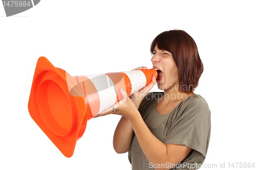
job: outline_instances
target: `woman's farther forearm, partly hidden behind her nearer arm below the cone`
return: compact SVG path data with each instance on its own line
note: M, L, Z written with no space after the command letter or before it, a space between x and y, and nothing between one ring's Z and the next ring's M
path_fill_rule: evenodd
M133 128L126 117L121 117L113 137L113 147L117 153L130 150L133 139Z

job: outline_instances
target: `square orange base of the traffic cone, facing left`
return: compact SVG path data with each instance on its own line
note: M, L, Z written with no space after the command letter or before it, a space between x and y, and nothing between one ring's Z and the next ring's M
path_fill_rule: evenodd
M65 70L54 67L45 57L36 64L28 109L42 131L66 157L86 129L86 103L70 95Z

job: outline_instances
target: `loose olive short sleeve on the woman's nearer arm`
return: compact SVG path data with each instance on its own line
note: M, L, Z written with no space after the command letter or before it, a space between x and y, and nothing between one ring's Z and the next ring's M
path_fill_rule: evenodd
M200 95L193 95L169 117L165 144L183 144L193 149L188 160L205 159L210 137L210 110Z

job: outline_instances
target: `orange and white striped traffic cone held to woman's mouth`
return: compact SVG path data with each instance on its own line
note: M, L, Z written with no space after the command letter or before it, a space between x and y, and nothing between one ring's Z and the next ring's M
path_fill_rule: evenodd
M71 76L40 57L28 109L42 131L66 157L71 157L87 121L121 101L120 89L133 94L149 84L155 69Z

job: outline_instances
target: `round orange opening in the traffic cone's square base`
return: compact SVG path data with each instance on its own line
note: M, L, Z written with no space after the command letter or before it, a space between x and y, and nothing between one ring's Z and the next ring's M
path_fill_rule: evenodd
M40 83L37 91L40 115L54 134L65 136L73 127L72 107L65 90L52 79Z

